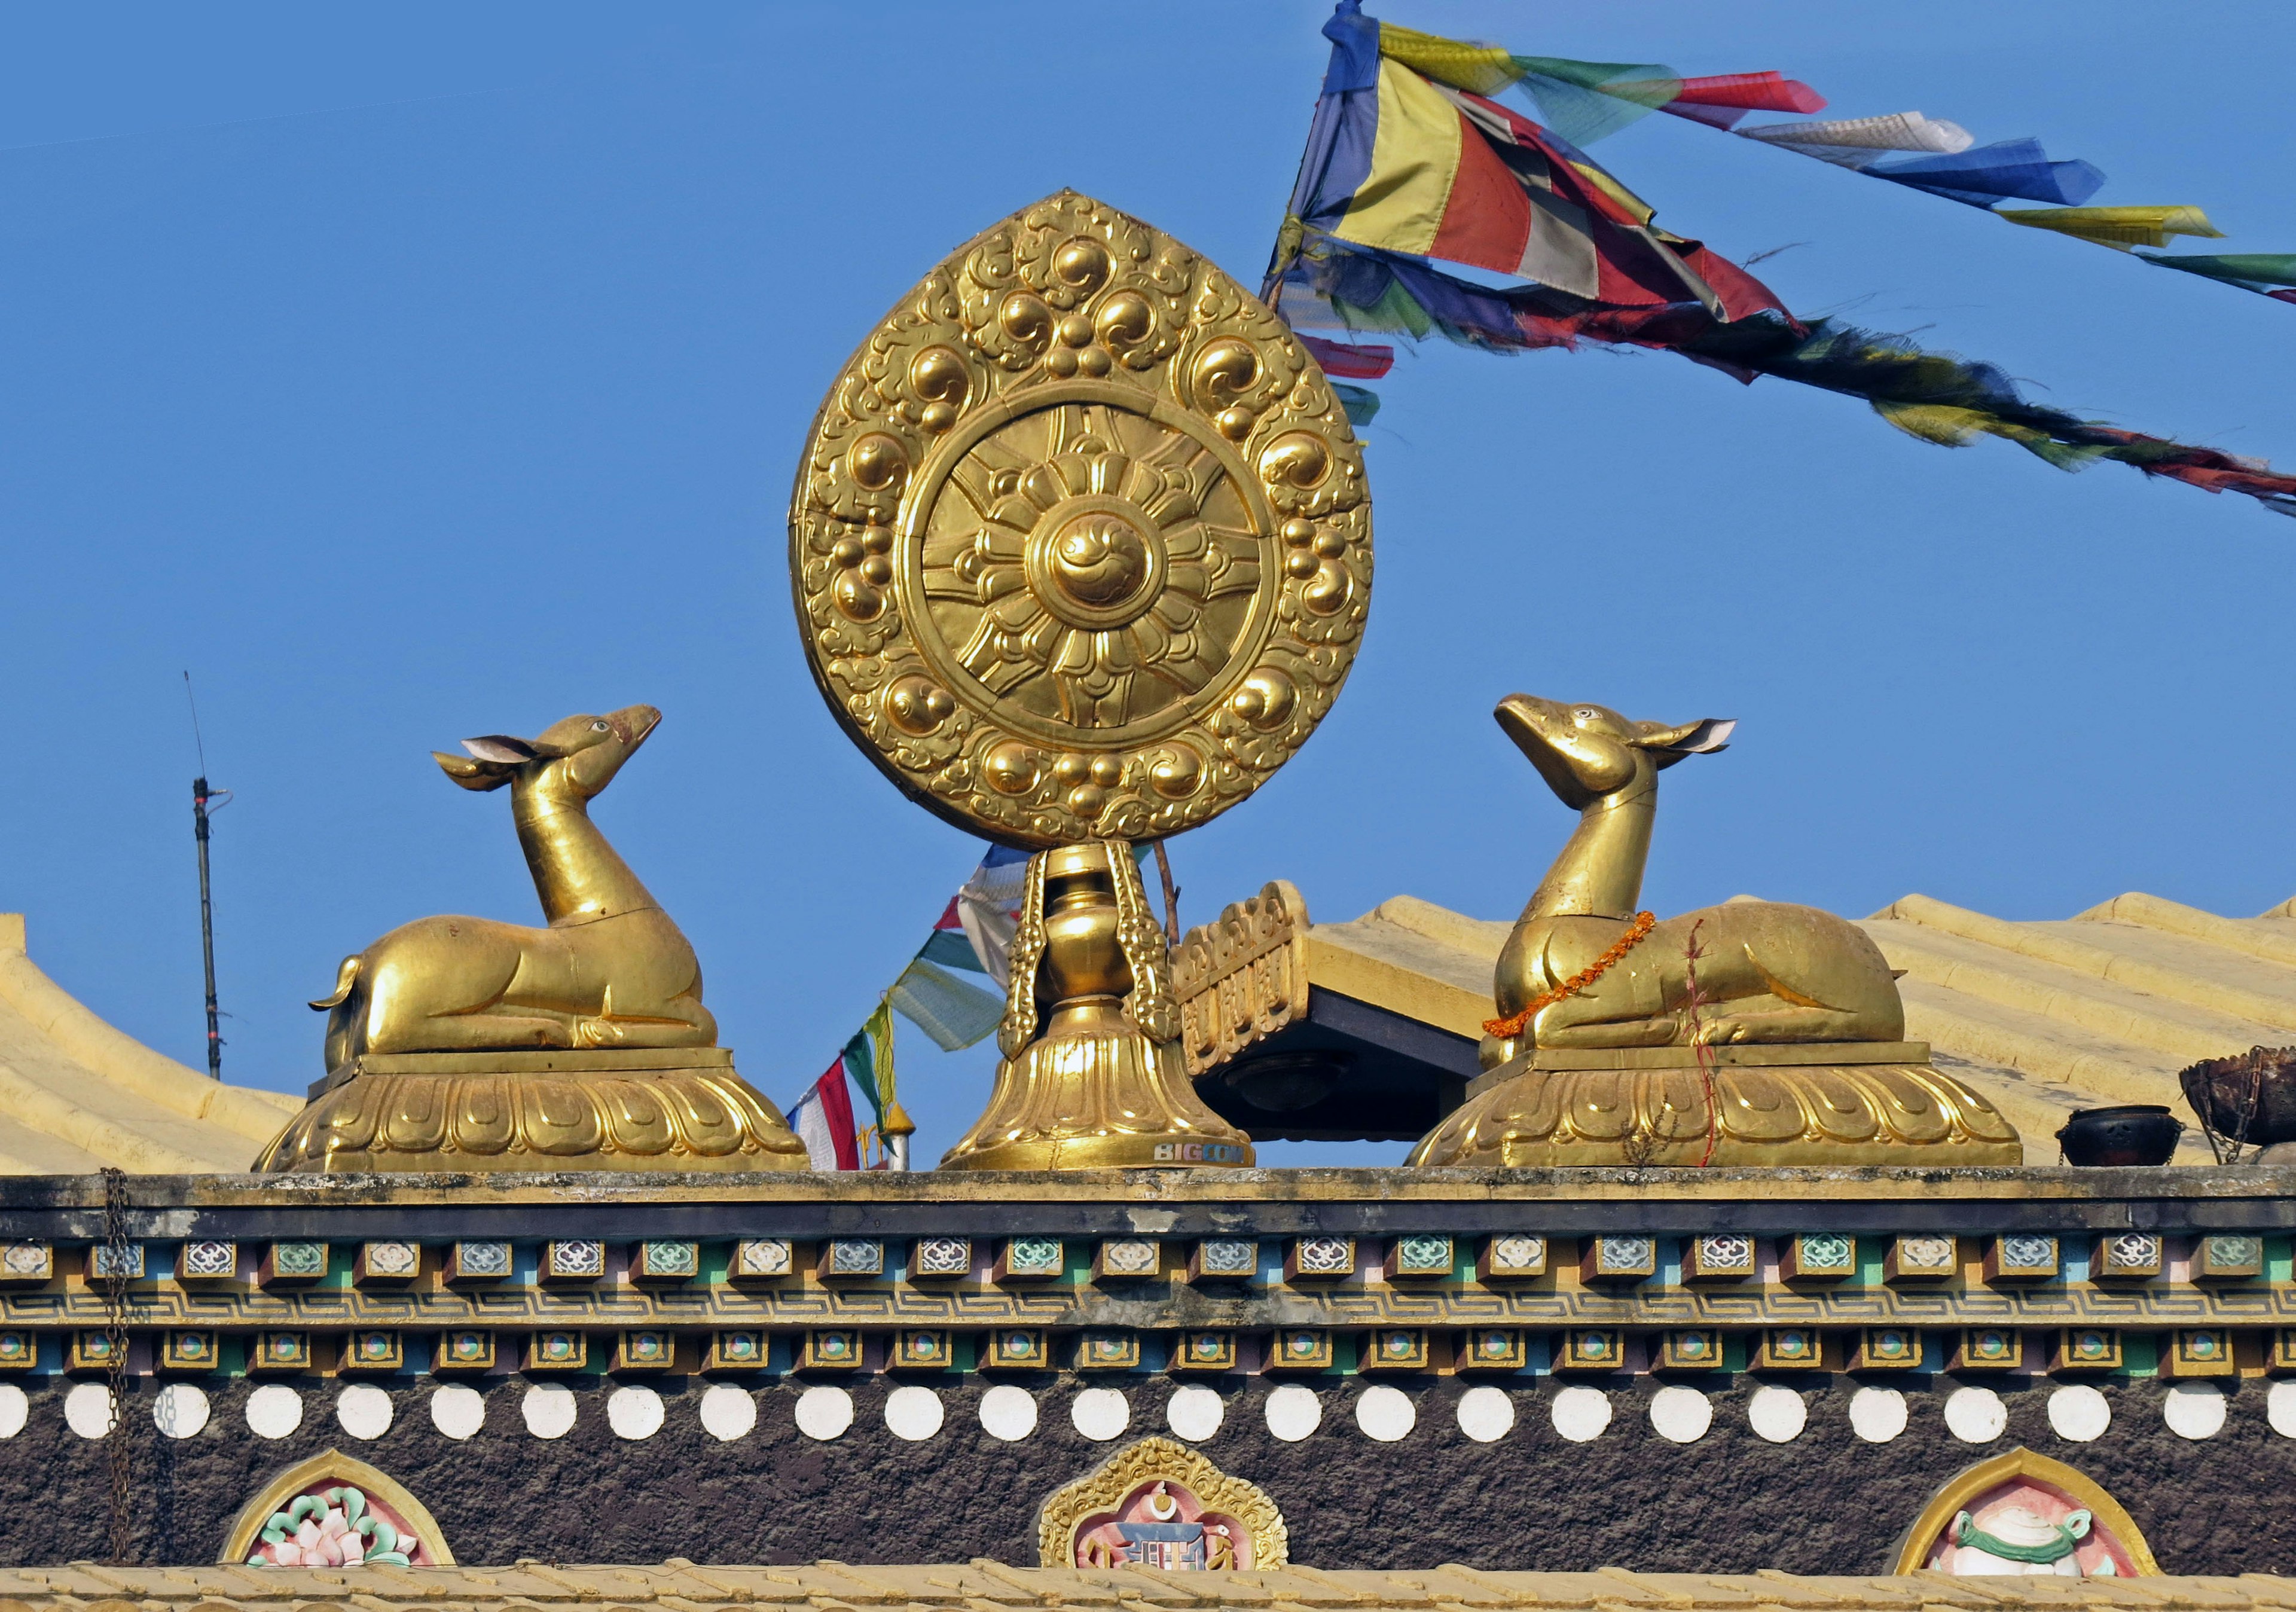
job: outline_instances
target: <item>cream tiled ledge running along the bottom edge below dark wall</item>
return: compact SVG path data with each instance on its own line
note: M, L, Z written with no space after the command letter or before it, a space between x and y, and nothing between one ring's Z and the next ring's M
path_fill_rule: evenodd
M985 1612L987 1607L1329 1607L1332 1612L1456 1612L1495 1607L1649 1607L1651 1612L2250 1612L2296 1607L2296 1580L2241 1578L1795 1578L1791 1573L1495 1573L1437 1566L1412 1573L1265 1568L1153 1573L1148 1568L1010 1568L974 1559L946 1566L659 1566L450 1568L117 1568L73 1561L0 1568L0 1605L37 1612L163 1612L168 1607L886 1607Z

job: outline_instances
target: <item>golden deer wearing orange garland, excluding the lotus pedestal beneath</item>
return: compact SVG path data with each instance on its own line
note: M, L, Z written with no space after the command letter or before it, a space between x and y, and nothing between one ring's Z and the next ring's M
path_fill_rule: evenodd
M1506 696L1495 716L1564 806L1580 813L1580 827L1499 953L1499 1020L1515 1020L1536 1001L1545 1006L1515 1036L1486 1043L1486 1068L1527 1045L1688 1047L1906 1033L1896 981L1864 930L1816 907L1768 900L1667 919L1593 981L1559 994L1635 925L1658 774L1685 755L1720 751L1736 723L1667 728L1529 693Z

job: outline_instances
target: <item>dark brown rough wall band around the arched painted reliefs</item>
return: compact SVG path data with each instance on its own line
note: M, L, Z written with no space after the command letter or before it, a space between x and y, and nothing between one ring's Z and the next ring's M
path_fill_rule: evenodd
M1029 1385L1040 1398L1033 1437L1003 1444L980 1431L976 1378L941 1389L948 1419L921 1444L884 1428L891 1385L854 1387L845 1437L797 1433L799 1387L758 1389L758 1428L721 1444L693 1401L698 1385L664 1382L668 1419L643 1442L606 1426L602 1385L579 1389L581 1417L556 1442L519 1417L521 1382L487 1387L487 1428L455 1442L432 1428L429 1382L393 1387L397 1419L360 1442L333 1419L328 1385L305 1387L305 1421L287 1440L248 1433L248 1382L211 1389L214 1417L188 1440L152 1431L149 1385L135 1405L135 1555L149 1564L211 1561L232 1516L282 1467L326 1447L406 1483L436 1516L457 1557L556 1561L962 1561L1035 1559L1033 1518L1056 1486L1088 1472L1125 1440L1164 1431L1171 1385L1127 1385L1132 1431L1116 1444L1084 1440L1068 1419L1075 1382ZM1945 1431L1954 1382L1908 1385L1910 1424L1890 1444L1848 1426L1853 1382L1795 1385L1809 1426L1768 1444L1745 1426L1750 1380L1715 1394L1713 1431L1669 1444L1649 1424L1653 1385L1616 1385L1616 1415L1591 1444L1568 1444L1548 1421L1552 1385L1515 1389L1515 1431L1497 1444L1453 1421L1458 1385L1407 1387L1419 1426L1396 1444L1364 1437L1350 1415L1357 1382L1325 1392L1322 1428L1283 1444L1267 1435L1267 1385L1221 1392L1228 1417L1203 1444L1224 1470L1261 1483L1290 1525L1293 1559L1325 1568L1596 1568L1747 1573L1878 1573L1899 1534L1954 1472L2011 1444L2066 1460L2138 1518L2170 1573L2296 1571L2296 1440L2264 1421L2262 1382L2234 1392L2225 1431L2190 1442L2161 1421L2163 1385L2105 1387L2112 1426L2094 1444L2060 1440L2048 1382L2009 1401L2009 1433L1961 1444ZM101 1444L64 1426L64 1385L28 1385L32 1419L0 1442L0 1564L101 1559L110 1479Z

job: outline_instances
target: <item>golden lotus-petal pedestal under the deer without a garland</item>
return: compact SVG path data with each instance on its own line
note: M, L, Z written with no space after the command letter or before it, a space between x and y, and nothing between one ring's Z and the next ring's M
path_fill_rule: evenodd
M363 1054L310 1098L255 1169L806 1169L726 1047Z

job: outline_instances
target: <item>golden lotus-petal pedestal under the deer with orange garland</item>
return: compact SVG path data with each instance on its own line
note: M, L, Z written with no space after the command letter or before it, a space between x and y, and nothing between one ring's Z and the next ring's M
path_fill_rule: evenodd
M1531 1049L1476 1077L1412 1164L2023 1164L1929 1045Z

